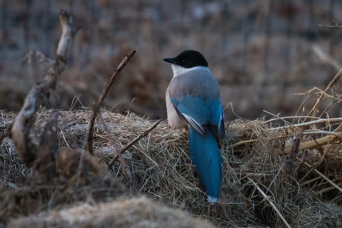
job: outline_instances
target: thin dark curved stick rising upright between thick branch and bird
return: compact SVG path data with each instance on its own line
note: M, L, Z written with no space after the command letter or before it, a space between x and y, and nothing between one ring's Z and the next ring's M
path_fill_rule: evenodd
M107 93L110 89L110 86L113 84L116 77L119 75L120 71L123 69L123 67L128 63L128 61L133 57L135 54L135 49L133 49L130 53L126 55L126 57L122 60L120 65L116 68L114 73L111 74L107 84L105 85L105 88L102 91L102 94L100 98L98 98L98 101L94 105L94 109L92 112L92 116L89 122L88 131L87 131L87 150L93 155L94 149L93 149L93 134L94 134L94 124L96 119L96 113L98 109L102 106L104 99L107 96Z

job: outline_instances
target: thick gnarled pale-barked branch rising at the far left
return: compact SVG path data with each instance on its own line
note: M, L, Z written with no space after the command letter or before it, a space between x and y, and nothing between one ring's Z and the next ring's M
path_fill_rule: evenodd
M65 69L66 59L74 38L73 19L66 11L60 11L62 35L57 48L57 56L42 82L34 85L25 98L24 105L12 123L11 135L18 155L27 166L36 158L37 148L29 136L41 100L49 97L55 89L57 76Z

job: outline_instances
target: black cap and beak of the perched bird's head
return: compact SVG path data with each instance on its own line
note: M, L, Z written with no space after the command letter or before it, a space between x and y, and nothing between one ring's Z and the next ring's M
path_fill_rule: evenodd
M201 53L194 50L183 51L174 58L165 58L163 61L172 63L184 68L192 68L197 66L208 67L206 59Z

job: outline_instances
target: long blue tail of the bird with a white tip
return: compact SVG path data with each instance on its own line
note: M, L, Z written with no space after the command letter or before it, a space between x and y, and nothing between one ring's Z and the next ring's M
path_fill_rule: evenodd
M190 126L189 151L192 163L196 165L196 171L206 187L208 201L216 202L221 187L222 158L211 130L201 135Z

